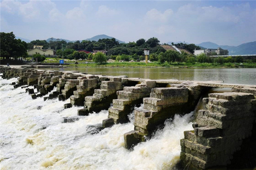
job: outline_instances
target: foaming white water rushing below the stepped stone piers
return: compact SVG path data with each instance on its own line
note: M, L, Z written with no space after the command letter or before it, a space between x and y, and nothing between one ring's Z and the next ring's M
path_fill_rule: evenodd
M175 115L152 139L128 151L124 133L133 130L132 123L92 135L88 125L102 123L108 111L62 123L63 117L76 116L82 107L64 109L69 99L32 100L25 89L13 89L14 81L0 80L1 169L172 169L180 159L183 132L193 129L192 113Z

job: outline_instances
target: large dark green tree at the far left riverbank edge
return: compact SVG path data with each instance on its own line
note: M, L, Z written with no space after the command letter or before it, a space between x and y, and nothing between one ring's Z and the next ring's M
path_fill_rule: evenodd
M13 32L10 33L0 33L0 43L1 50L0 56L6 59L13 57L17 59L18 57L27 57L27 43L21 41L20 39L15 39Z

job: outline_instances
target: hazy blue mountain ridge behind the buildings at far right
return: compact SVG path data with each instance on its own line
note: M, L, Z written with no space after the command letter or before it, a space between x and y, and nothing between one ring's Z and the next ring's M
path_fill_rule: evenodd
M228 50L229 55L256 54L256 41L244 43L239 46L218 45L212 42L204 42L196 45L212 49L217 49L218 47L220 47L224 50Z

